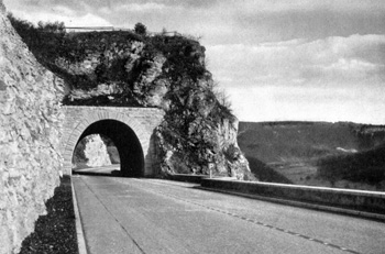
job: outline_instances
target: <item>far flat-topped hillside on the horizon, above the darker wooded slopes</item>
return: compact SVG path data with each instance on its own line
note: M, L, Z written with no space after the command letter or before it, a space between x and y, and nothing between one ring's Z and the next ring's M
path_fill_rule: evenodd
M385 143L384 125L350 122L240 122L239 145L264 163L294 163L367 151Z

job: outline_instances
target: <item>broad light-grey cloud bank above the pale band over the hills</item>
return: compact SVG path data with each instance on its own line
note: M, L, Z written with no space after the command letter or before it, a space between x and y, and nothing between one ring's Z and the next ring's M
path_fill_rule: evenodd
M358 86L385 80L385 35L207 47L223 86ZM378 57L380 56L380 57ZM374 84L373 84L374 82Z

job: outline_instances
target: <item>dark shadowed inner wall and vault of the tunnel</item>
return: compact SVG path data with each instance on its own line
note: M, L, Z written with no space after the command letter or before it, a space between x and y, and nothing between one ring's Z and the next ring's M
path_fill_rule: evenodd
M82 139L92 134L99 134L100 136L107 137L116 145L120 157L119 175L125 177L143 176L144 155L142 145L130 126L116 120L101 120L95 122L81 133L76 146L78 146Z

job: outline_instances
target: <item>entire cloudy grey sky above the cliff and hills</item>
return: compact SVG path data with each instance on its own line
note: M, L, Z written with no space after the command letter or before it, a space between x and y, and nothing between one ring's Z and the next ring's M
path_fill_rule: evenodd
M200 37L240 121L385 124L384 0L3 0L66 26Z

